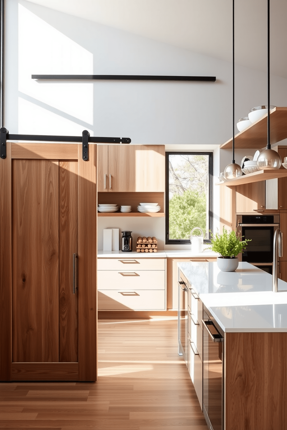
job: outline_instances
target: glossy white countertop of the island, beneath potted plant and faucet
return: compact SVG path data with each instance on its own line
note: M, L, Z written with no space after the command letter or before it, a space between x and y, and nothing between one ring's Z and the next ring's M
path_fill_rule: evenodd
M182 262L178 267L225 332L286 332L287 283L239 263L235 272L222 272L216 263Z

